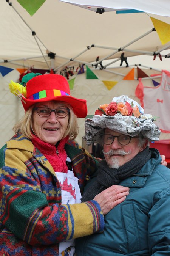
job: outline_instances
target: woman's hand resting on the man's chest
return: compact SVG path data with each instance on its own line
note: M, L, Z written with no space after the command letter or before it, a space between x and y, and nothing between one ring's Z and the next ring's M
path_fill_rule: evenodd
M113 185L94 197L94 200L99 203L103 214L107 214L117 204L122 203L129 194L129 188L119 185Z

